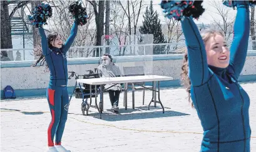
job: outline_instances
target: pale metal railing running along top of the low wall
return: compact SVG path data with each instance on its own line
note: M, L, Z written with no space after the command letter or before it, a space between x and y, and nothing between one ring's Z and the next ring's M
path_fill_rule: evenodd
M256 49L252 49L250 41L248 46L248 53L256 53ZM185 43L162 43L162 44L127 44L120 46L74 46L71 47L67 53L67 58L92 58L102 56L106 53L106 48L109 48L112 56L143 56L156 54L182 54L187 49ZM23 60L31 61L36 58L33 55L33 48L20 49L1 49L1 51L13 51L14 61ZM19 51L20 58L16 59L16 53Z

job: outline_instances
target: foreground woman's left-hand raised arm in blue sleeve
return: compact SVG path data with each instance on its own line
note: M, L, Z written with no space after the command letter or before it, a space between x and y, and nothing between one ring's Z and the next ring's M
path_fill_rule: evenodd
M182 29L188 49L188 75L191 83L199 86L209 78L205 45L192 18L185 18L182 21Z

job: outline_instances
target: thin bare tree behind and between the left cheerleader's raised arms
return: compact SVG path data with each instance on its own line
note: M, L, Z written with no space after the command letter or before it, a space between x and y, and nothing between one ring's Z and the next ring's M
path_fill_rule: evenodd
M70 34L71 27L73 26L74 19L71 13L68 13L69 5L73 1L49 1L49 4L53 7L53 17L48 21L48 27L50 32L58 32L63 36L64 41ZM93 17L93 7L88 4L87 1L83 1L83 7L86 8L86 12L89 16L88 22L84 26L78 27L78 34L74 40L73 46L91 46L95 41L95 29L89 29ZM68 52L69 58L88 57L93 56L90 49L71 49Z

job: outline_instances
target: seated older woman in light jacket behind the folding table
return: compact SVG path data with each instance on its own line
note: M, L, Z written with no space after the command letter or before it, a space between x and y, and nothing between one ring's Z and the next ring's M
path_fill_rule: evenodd
M98 66L97 73L101 78L118 77L121 76L120 68L113 63L113 58L110 54L103 54L101 57L102 63ZM110 102L112 109L115 113L118 113L118 102L121 93L121 84L106 84L105 88L108 89L110 95Z

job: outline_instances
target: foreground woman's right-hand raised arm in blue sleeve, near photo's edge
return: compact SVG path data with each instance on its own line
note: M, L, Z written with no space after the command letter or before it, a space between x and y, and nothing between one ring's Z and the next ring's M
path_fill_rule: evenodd
M234 24L234 36L230 48L230 66L238 78L247 56L250 34L248 1L237 1L237 17Z

